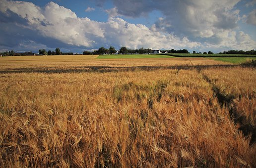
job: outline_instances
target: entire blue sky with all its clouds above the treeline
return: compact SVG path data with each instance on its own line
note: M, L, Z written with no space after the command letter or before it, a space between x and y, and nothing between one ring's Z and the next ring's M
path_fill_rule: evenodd
M256 0L0 0L0 52L256 50Z

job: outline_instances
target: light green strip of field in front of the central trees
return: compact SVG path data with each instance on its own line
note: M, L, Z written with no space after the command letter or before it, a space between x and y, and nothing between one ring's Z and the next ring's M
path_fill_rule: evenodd
M170 55L157 54L132 54L132 55L99 55L97 59L118 59L118 58L174 58Z

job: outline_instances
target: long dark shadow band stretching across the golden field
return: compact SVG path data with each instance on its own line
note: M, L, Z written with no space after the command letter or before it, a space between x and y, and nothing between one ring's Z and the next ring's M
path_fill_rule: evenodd
M179 65L179 66L137 66L137 67L110 67L110 66L81 66L73 68L56 68L56 67L41 67L41 68L8 68L0 70L1 74L9 73L108 73L108 72L126 72L126 71L153 71L161 69L178 69L189 70L196 69L201 70L205 68L230 68L238 67L240 65Z

